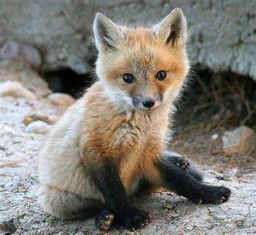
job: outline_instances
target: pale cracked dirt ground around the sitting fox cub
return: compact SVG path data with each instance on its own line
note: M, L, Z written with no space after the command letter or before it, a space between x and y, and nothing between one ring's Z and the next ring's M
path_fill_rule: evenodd
M16 75L21 76L19 73ZM33 89L46 88L40 86ZM13 219L17 234L99 232L93 219L62 221L46 215L37 204L38 150L45 135L25 133L22 121L31 114L56 118L62 112L62 108L51 105L45 98L29 101L0 97L0 222ZM193 112L190 107L184 111L190 115ZM199 168L205 172L206 183L226 185L231 188L232 196L220 205L197 205L170 192L137 198L134 204L150 211L153 219L151 224L134 233L256 233L255 152L224 155L220 151L220 137L212 140L211 136L215 133L221 136L226 128L232 127L225 127L221 120L214 124L216 117L207 119L207 122L193 119L190 123L187 121L190 115L185 115L186 118L177 116L179 124L174 129L176 133L171 148L190 156L198 167L200 165ZM109 233L132 232L113 228Z

